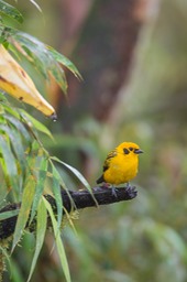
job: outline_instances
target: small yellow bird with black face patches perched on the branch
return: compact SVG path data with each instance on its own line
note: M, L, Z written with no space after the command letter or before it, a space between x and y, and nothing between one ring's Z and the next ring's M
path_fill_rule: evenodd
M103 173L97 184L107 183L112 186L128 183L135 177L139 167L139 154L143 153L140 147L132 142L123 142L112 150L105 163Z

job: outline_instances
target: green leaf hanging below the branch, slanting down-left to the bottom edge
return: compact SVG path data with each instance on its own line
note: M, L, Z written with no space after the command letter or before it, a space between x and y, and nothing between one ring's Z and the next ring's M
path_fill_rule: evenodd
M44 200L43 200L43 198L41 198L38 207L37 207L35 252L34 252L34 257L33 257L33 260L32 260L28 282L31 280L31 276L33 274L33 271L34 271L37 258L38 258L38 254L41 252L41 249L42 249L42 246L43 246L43 242L44 242L45 232L46 232L46 224L47 224L47 212L46 212Z

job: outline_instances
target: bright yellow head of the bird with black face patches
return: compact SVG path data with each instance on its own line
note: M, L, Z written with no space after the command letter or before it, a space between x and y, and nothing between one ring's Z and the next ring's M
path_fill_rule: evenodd
M125 155L139 155L143 153L140 147L132 142L123 142L119 147L117 147L117 151L121 154Z

